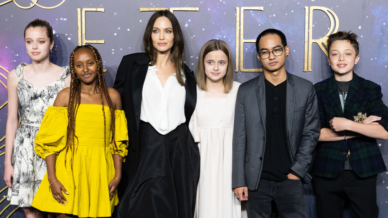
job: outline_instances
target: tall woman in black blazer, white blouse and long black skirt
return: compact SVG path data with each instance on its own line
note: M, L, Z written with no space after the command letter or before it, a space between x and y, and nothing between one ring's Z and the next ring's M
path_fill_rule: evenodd
M184 39L168 10L148 21L145 53L126 55L114 88L128 120L117 217L193 217L199 152L188 129L195 109L194 73L183 63Z

